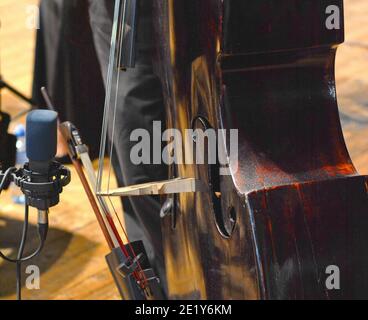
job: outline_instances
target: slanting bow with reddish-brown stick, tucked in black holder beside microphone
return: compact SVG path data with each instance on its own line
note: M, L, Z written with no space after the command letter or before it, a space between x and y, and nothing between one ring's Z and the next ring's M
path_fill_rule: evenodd
M54 107L46 89L42 88L41 91L49 109L53 110ZM106 257L106 260L109 264L110 270L113 273L113 277L118 285L120 293L123 297L128 298L141 299L145 297L152 299L154 297L159 297L160 290L158 290L155 286L155 282L158 282L157 277L154 276L152 269L147 268L143 270L141 266L141 261L145 258L145 252L141 252L138 255L135 253L134 243L129 241L127 232L114 209L116 217L119 220L120 227L122 228L127 241L127 245L124 245L106 201L102 197L97 197L96 201L96 197L91 189L91 186L93 188L96 187L96 176L93 170L91 159L88 155L88 147L83 144L77 128L70 122L64 122L59 124L59 130L61 133L60 142L67 147L69 157L74 168L76 169L80 181L82 182L83 188L87 194L88 200L96 215L97 221L108 243L108 246L111 249L111 254ZM83 168L87 172L89 182ZM137 290L132 283L127 284L126 281L123 281L121 277L117 275L116 271L118 271L123 278L132 275L139 288L144 293L144 297L142 297L142 292ZM149 275L149 279L147 279L146 274ZM130 292L127 293L126 291Z

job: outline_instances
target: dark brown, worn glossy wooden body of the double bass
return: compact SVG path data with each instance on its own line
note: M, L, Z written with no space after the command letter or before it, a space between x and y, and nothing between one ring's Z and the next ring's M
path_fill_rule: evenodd
M340 29L326 28L328 5L341 10ZM367 179L344 143L334 79L342 0L155 0L154 9L168 127L239 133L231 175L170 169L210 187L174 196L163 219L170 298L367 297Z

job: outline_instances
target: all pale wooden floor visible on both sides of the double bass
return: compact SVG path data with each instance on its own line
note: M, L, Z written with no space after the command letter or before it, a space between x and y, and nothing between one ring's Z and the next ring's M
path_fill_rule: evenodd
M31 88L34 31L26 28L26 8L37 2L0 0L2 74L27 94ZM338 98L348 149L358 170L368 174L368 1L344 3L346 43L337 56ZM4 92L3 107L14 114L26 106ZM2 195L0 248L15 247L22 214L22 208L11 203L9 192ZM104 261L107 246L78 179L65 190L50 220L46 249L32 261L41 268L41 289L24 289L24 298L119 298ZM32 227L31 238L34 232ZM13 298L14 268L0 261L0 299Z

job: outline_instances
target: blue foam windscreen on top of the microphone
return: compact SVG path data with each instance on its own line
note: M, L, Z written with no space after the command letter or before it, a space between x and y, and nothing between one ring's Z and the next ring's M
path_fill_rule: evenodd
M58 114L34 110L27 116L26 152L30 161L50 161L55 157Z

